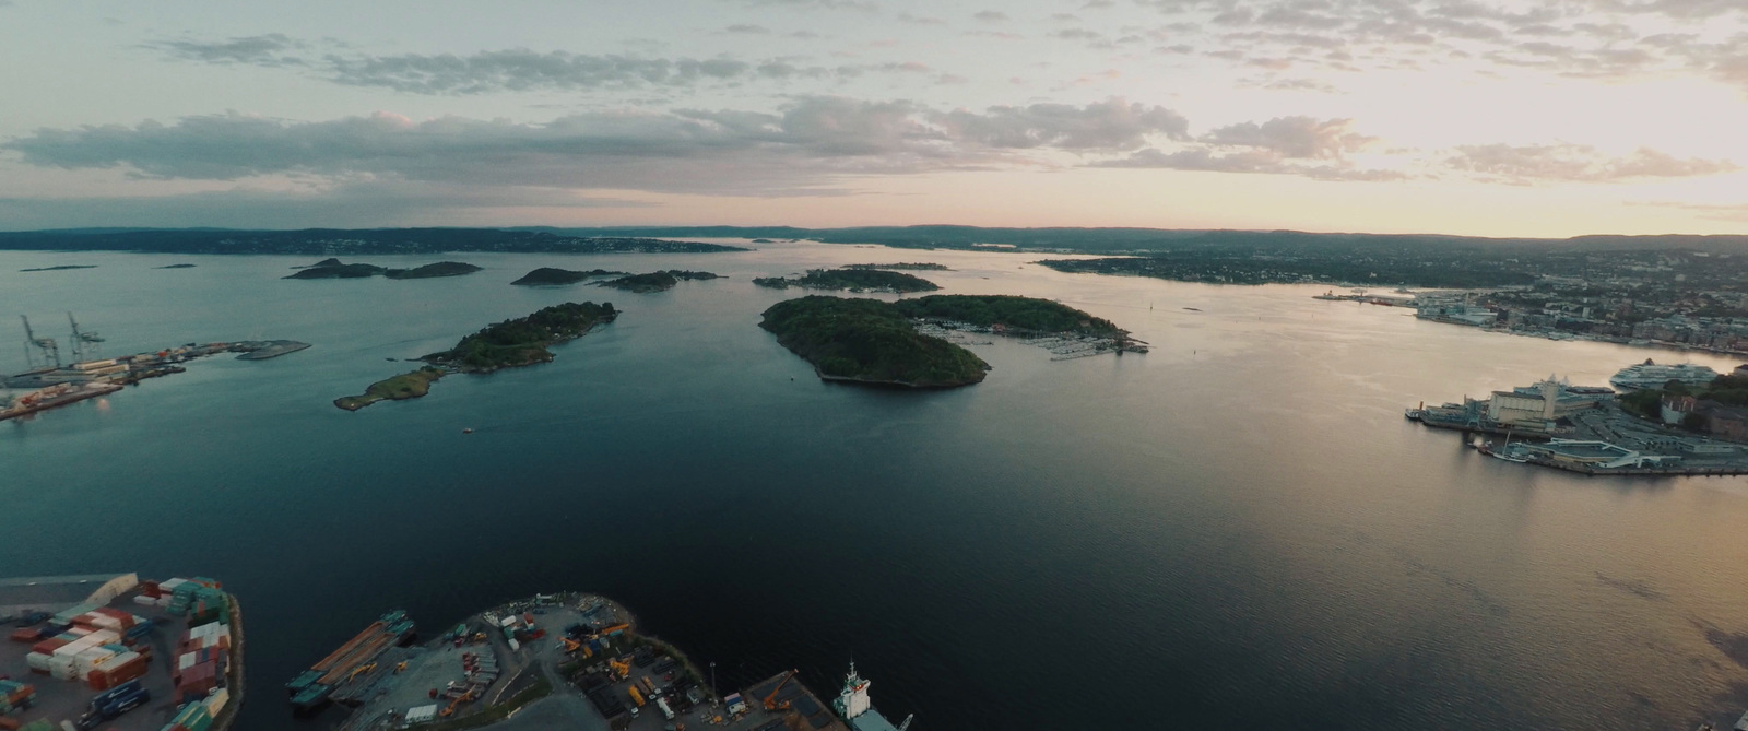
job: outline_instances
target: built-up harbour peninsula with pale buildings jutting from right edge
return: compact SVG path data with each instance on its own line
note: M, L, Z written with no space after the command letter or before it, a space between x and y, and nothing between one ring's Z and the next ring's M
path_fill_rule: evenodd
M1612 388L1573 386L1549 376L1486 399L1421 404L1405 416L1465 432L1465 442L1488 456L1585 476L1748 474L1748 441L1739 439L1748 432L1720 439L1687 428L1690 411L1682 409L1690 409L1692 400L1664 400L1661 418L1640 418Z

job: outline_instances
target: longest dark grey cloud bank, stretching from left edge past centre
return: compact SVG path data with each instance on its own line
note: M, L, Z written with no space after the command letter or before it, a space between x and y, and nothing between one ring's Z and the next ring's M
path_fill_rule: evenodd
M792 100L776 112L593 112L545 124L393 114L294 122L241 114L38 129L0 150L28 164L161 180L406 180L738 196L818 194L850 175L1031 164L1030 152L1120 152L1183 136L1161 107L942 112L912 101Z

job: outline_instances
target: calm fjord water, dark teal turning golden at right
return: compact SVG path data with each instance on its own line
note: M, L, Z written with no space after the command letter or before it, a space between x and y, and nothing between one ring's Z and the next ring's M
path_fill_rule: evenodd
M759 247L360 257L486 266L420 282L280 280L316 257L0 254L0 313L59 336L73 310L110 355L315 345L0 423L0 574L222 577L246 610L248 731L322 726L278 684L385 609L437 633L556 589L624 600L722 687L799 668L829 694L855 658L918 729L1645 729L1748 705L1748 481L1585 479L1402 418L1676 353L1321 287ZM923 273L947 292L1059 299L1154 352L975 345L982 385L907 393L823 385L757 327L799 292L752 276L888 261L953 266ZM98 268L17 273L52 264ZM731 278L509 285L537 266ZM552 364L330 406L409 367L385 359L582 299L624 315Z

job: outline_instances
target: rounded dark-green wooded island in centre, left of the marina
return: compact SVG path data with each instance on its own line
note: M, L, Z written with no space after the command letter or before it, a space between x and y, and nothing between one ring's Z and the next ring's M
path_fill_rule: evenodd
M766 310L759 327L825 381L951 388L979 383L989 371L970 350L916 332L909 317L877 299L788 299Z

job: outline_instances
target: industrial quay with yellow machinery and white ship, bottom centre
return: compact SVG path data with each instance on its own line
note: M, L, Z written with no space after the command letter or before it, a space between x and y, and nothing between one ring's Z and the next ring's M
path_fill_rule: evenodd
M713 670L643 635L619 603L537 595L474 614L414 645L388 612L287 684L292 712L323 705L341 731L909 731L874 710L855 666L830 703L787 670L718 694Z

